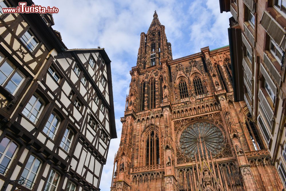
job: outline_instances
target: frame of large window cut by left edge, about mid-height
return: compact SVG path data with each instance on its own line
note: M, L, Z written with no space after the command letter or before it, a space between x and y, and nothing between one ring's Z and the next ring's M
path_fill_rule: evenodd
M18 67L16 67L14 64L12 64L8 59L5 59L4 56L2 56L0 54L1 58L0 60L4 59L0 65L0 68L2 66L4 66L4 64L8 64L11 68L13 68L13 70L11 71L11 73L7 76L6 74L4 74L1 70L0 72L4 74L4 76L6 76L7 78L3 81L2 84L0 84L5 90L7 90L10 94L15 95L19 88L21 87L21 85L23 84L23 82L25 81L26 77L25 75L21 72L21 70L19 70ZM19 82L18 85L16 85L16 83L14 81L12 81L13 76L15 76L15 74L18 74L20 77L22 77L22 80ZM6 89L6 87L8 86L8 84L12 82L13 84L15 84L17 87L15 88L15 90L13 92L10 92L10 90Z

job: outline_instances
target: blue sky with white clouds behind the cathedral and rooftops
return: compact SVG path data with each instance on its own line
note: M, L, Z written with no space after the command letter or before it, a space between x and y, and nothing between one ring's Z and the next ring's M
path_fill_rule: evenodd
M228 45L230 13L220 13L219 0L34 0L37 5L58 7L53 29L61 33L67 48L105 48L111 62L117 136L121 135L120 117L136 66L140 33L147 32L154 10L165 25L173 59ZM120 140L112 139L100 189L110 190L114 154Z

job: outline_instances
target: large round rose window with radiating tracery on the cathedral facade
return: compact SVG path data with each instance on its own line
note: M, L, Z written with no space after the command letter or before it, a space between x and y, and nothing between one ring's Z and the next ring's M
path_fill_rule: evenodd
M180 137L180 149L188 157L198 159L198 150L200 156L212 157L218 155L225 147L225 138L223 132L216 125L209 122L196 122L190 124L182 131Z

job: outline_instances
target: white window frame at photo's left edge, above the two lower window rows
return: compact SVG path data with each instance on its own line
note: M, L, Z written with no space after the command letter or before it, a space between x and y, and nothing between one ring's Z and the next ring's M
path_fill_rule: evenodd
M0 58L0 60L3 58L2 56L0 56L1 58ZM11 68L13 68L13 70L11 71L11 73L7 76L7 74L4 74L4 72L2 72L1 71L1 67L3 67L4 66L4 64L8 64ZM15 74L18 74L21 78L22 78L22 80L19 82L19 84L16 84L13 80L12 80L12 78L15 76ZM18 68L16 68L13 64L11 64L10 62L8 62L8 60L6 60L5 62L3 62L3 64L0 66L0 75L4 75L5 77L6 77L6 79L3 81L3 83L2 84L0 84L3 88L5 88L9 93L11 93L12 95L14 95L17 91L18 91L18 89L19 89L19 87L22 85L22 83L23 83L23 81L24 81L24 79L25 79L25 76L22 74L22 72L18 69ZM13 91L13 92L11 92L9 89L7 89L6 87L8 87L8 84L9 83L13 83L15 86L16 86L16 88L15 88L15 90Z

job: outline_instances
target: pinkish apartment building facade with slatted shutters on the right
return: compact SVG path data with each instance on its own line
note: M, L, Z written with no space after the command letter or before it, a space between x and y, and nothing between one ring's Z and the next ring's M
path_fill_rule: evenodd
M285 0L219 0L230 11L236 101L245 100L286 185ZM253 142L255 143L255 137Z

